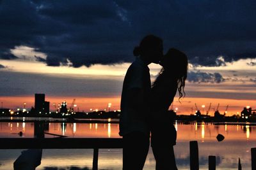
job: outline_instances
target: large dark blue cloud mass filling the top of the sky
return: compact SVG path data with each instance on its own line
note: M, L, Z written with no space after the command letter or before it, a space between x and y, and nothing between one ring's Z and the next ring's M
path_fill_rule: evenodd
M147 34L196 66L256 57L254 0L0 2L1 59L15 59L10 49L23 45L46 53L49 66L131 62Z

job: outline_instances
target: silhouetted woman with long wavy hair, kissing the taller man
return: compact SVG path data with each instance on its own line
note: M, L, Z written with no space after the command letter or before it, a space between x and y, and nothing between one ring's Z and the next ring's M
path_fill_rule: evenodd
M162 67L151 89L151 146L156 159L156 169L177 169L173 145L177 133L173 126L174 112L168 111L173 98L179 91L184 97L185 80L188 71L187 56L171 48L160 61Z

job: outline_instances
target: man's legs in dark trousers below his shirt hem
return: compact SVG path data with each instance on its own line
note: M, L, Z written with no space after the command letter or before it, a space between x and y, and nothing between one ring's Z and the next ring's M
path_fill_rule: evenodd
M123 169L141 170L147 159L149 138L143 132L131 132L123 136Z

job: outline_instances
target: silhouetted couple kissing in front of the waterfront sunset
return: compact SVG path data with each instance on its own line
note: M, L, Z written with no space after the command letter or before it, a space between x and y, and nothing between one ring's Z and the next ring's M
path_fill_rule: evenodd
M153 35L143 38L133 53L136 60L125 74L121 98L123 169L143 169L150 132L156 169L177 169L173 152L177 134L168 108L177 90L184 96L188 59L174 48L163 55L163 40ZM148 64L152 62L163 67L151 85Z

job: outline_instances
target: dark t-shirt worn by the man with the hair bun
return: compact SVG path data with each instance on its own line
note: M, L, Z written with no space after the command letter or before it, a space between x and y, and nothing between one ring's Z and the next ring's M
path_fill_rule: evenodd
M149 136L149 127L147 124L148 97L151 82L148 66L138 57L125 74L122 98L121 98L121 115L120 115L120 136L129 132L139 131ZM131 107L128 93L131 89L143 90L143 106L140 109Z

